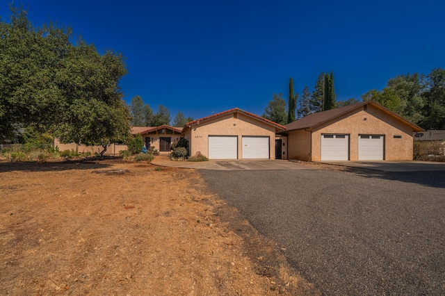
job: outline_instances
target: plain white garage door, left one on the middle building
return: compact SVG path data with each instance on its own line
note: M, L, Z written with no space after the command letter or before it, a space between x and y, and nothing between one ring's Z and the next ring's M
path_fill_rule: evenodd
M238 158L238 137L209 135L209 159Z

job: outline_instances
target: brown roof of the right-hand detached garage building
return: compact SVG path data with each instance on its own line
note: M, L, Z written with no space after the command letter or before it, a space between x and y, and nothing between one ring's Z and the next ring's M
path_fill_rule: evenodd
M302 117L300 120L296 120L295 122L286 124L286 128L287 128L287 131L294 131L294 130L298 130L298 129L313 129L316 126L320 126L321 124L325 124L327 122L330 122L331 120L335 120L342 115L346 115L347 113L350 113L354 110L357 110L358 108L362 108L362 106L369 105L369 104L375 106L376 108L379 108L383 112L385 112L393 117L396 117L398 120L405 122L405 124L412 127L413 131L423 131L423 129L421 127L417 126L416 124L413 124L412 122L410 122L408 120L405 120L403 117L397 115L396 113L392 112L391 110L381 106L380 104L375 103L375 101L362 101L357 104L307 115L305 117Z

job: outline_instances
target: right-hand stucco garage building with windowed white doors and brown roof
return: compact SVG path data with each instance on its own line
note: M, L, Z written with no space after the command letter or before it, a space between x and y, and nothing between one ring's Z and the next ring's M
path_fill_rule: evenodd
M373 102L307 115L286 125L289 159L301 161L412 160L413 132L423 131Z

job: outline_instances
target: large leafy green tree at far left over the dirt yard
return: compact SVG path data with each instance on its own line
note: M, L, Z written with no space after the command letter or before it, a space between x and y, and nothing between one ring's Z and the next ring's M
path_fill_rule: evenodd
M70 28L34 28L22 8L11 11L11 22L0 22L0 134L23 124L104 151L126 141L130 116L118 85L127 73L122 55L101 55L81 38L72 44Z

